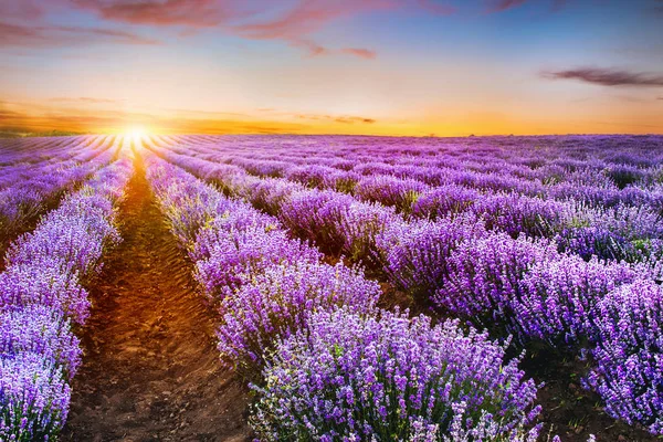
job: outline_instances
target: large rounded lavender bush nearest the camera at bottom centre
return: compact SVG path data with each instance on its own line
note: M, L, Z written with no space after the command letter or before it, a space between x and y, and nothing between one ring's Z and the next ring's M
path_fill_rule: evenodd
M495 440L539 412L536 385L504 352L457 322L320 312L278 343L251 422L264 441Z

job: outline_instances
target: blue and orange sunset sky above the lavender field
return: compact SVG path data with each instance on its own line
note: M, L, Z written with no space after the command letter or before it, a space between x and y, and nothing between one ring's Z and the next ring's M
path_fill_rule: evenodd
M663 0L0 0L0 128L662 134Z

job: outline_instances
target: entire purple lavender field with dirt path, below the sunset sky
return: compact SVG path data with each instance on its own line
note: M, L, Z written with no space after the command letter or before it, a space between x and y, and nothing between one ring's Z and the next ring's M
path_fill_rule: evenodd
M4 139L0 253L2 441L663 436L663 136Z

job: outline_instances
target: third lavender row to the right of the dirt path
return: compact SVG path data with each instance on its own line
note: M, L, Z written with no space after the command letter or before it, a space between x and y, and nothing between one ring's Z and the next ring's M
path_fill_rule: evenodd
M160 152L176 161L191 161L187 158L180 160L179 154ZM206 160L193 161L202 164ZM248 168L259 176L274 175L270 168L261 171L250 168L251 165L251 161L243 162L242 168L219 165L219 169L242 173ZM560 251L577 253L586 260L597 255L602 260L640 262L659 260L663 255L663 212L646 204L594 208L573 200L484 193L457 185L431 187L411 178L385 175L362 177L328 169L295 167L285 173L285 178L394 207L410 218L434 220L471 213L480 218L487 229L505 231L513 238L520 233L533 238L555 238ZM208 177L212 176L208 173Z

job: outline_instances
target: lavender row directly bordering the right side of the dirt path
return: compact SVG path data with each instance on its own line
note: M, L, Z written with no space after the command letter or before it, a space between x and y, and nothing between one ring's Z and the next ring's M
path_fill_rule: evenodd
M536 440L536 386L487 335L378 311L376 283L273 217L156 158L148 178L220 309L222 360L257 392L262 440Z

